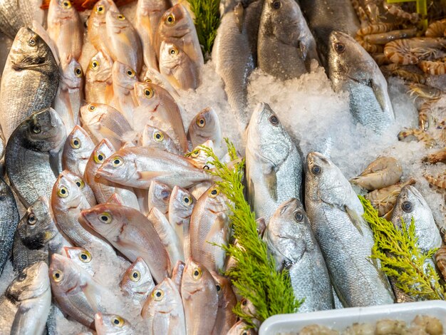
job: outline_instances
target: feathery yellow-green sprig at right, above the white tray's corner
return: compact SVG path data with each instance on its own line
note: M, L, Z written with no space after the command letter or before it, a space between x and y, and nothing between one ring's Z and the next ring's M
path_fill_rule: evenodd
M395 278L396 286L414 299L441 299L446 297L446 287L434 267L426 264L436 249L423 253L415 236L415 221L408 226L401 220L401 229L378 216L368 200L359 196L364 207L364 219L369 223L375 244L372 258L379 259L385 274Z

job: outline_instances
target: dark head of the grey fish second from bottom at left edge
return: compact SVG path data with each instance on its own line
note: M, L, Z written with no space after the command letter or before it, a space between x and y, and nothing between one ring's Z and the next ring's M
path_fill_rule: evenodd
M38 197L36 202L28 207L19 222L17 234L28 249L41 249L56 237L58 230L47 197Z

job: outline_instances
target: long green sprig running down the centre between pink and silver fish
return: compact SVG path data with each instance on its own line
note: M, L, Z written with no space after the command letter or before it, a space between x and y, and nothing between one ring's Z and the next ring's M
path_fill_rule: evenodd
M303 301L294 297L288 272L276 272L274 257L269 256L266 244L259 237L254 212L244 199L244 159L238 158L234 145L227 138L224 140L233 162L229 166L222 163L211 148L201 148L215 167L209 173L221 180L216 184L229 200L232 233L239 243L239 247L234 244L220 246L237 262L225 274L232 279L239 294L255 307L254 314L247 314L239 303L234 313L255 328L255 319L262 322L275 314L296 313Z

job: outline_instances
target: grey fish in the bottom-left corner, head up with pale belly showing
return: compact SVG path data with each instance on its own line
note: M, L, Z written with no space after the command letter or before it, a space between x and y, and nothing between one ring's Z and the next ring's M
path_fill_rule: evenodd
M24 269L0 297L1 334L46 334L50 306L48 265L37 262Z

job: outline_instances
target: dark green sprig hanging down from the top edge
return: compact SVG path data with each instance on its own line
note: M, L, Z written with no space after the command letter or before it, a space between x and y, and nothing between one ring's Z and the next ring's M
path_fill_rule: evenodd
M212 51L217 28L220 24L219 0L187 0L195 14L195 29L204 57L208 58Z

